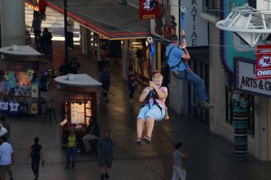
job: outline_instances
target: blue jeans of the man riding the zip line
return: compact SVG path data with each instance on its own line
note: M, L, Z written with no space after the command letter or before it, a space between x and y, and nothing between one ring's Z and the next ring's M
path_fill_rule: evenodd
M194 84L196 101L205 102L208 100L203 79L193 73L190 68L186 68L185 70L180 71L177 75L177 78L180 80L188 80L190 83Z

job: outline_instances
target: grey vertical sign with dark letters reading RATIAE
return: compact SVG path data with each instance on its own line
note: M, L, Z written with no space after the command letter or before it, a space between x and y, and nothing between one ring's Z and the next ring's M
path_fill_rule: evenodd
M208 23L200 17L203 11L202 0L183 0L185 6L185 33L188 46L208 46Z

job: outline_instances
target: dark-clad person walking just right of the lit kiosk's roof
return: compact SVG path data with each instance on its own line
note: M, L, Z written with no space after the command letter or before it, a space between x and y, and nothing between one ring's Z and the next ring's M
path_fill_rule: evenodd
M108 100L108 91L109 91L109 86L111 84L111 80L110 80L110 73L109 73L108 66L105 66L103 68L103 71L100 73L99 80L103 84L102 85L103 92L101 95L101 100L104 100L105 102L110 102Z

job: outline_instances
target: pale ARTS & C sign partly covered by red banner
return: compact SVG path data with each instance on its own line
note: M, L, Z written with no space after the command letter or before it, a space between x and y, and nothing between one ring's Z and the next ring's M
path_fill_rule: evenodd
M235 88L252 94L271 96L271 80L256 79L256 65L235 60Z

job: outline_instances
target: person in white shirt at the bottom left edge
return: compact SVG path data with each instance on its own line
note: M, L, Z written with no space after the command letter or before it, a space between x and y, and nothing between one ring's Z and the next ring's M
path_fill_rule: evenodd
M9 174L10 179L14 180L14 176L11 170L11 164L14 164L14 152L11 144L6 142L6 137L0 137L0 171L1 180L5 179L6 172Z

